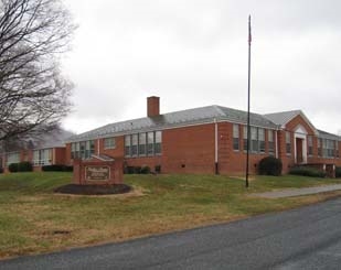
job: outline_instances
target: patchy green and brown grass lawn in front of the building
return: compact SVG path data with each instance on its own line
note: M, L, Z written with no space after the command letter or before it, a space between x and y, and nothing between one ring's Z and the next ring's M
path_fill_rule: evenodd
M108 196L54 194L71 173L0 175L0 258L160 234L283 210L341 192L295 198L252 196L285 187L341 183L286 175L244 181L214 175L125 175L134 192Z

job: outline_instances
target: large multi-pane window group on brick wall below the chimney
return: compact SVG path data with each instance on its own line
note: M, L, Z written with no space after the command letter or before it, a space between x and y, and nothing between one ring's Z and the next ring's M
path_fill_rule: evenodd
M126 156L152 156L161 154L162 131L128 134L125 137Z

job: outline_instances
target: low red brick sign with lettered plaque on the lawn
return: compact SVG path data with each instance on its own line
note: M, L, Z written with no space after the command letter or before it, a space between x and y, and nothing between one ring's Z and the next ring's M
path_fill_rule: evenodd
M121 184L122 160L74 160L73 183L78 185L108 185Z

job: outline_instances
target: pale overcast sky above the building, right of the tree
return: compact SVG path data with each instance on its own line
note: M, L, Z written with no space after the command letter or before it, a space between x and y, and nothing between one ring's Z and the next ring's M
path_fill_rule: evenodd
M340 0L66 0L79 28L63 61L75 84L64 128L77 133L146 116L221 105L301 109L316 128L341 130Z

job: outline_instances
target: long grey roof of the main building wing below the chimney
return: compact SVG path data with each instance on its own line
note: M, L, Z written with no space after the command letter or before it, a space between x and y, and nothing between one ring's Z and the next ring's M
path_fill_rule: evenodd
M145 117L134 120L109 123L104 127L71 137L67 141L93 140L135 132L145 132L156 129L168 129L216 121L231 121L237 123L247 122L247 112L231 109L222 106L206 106L194 109L181 110L159 115L156 117ZM277 126L262 115L251 114L251 125L264 128L276 129Z

